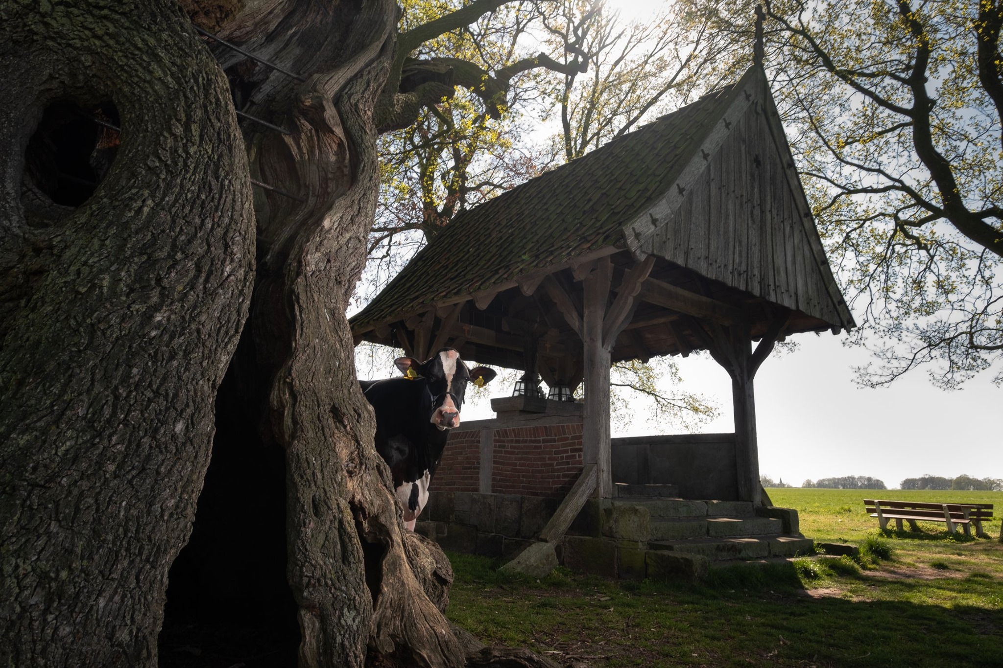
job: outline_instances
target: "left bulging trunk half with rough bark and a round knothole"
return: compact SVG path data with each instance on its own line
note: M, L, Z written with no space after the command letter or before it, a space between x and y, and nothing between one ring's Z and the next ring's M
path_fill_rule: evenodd
M0 665L154 665L247 313L244 144L170 4L5 2L0 79ZM77 207L25 169L56 100L122 127Z

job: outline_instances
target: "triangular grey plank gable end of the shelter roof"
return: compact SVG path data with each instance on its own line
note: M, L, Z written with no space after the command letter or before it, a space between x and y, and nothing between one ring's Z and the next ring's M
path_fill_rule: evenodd
M653 253L833 327L854 326L760 70L666 196L624 226Z

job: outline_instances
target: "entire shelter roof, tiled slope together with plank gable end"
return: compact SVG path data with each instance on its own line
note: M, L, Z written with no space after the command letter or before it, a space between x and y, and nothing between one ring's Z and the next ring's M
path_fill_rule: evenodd
M571 268L601 255L613 257L620 270L630 257L653 255L658 259L647 281L653 289L668 281L739 308L753 336L765 331L776 307L791 312L782 336L855 325L765 75L753 67L737 83L458 214L351 318L352 331L392 344L402 326L410 330L417 321L412 316L432 309L446 329L472 325L492 301L510 324L488 327L519 328L512 308L529 306L514 304L517 285L529 295L547 274L567 282ZM701 346L685 320L663 326L678 319L678 310L653 312L650 296L642 295L649 304L631 325L637 330L618 340L614 359L685 355ZM546 301L525 315L527 322L548 319L540 310L549 308ZM463 302L446 322L443 308ZM666 302L653 303L657 310ZM569 332L559 328L558 339L566 339ZM468 327L464 337L460 341L469 339ZM513 362L494 349L519 345L492 341L471 340L469 353L481 356L472 359L497 353Z

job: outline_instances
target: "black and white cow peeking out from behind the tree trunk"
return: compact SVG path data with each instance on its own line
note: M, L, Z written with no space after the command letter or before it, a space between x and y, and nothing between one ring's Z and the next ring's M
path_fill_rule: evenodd
M414 358L394 363L404 378L359 384L376 412L376 452L390 466L404 526L414 531L449 430L459 427L466 385L483 386L494 372L486 367L468 370L451 348L424 364Z

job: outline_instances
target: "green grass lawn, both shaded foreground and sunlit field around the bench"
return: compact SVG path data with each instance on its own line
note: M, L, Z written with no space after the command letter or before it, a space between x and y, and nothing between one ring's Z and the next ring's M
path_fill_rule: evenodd
M819 541L875 536L865 498L964 500L1003 493L770 489ZM943 524L894 532L889 561L803 560L712 571L699 585L611 581L559 569L542 581L450 554L448 616L484 642L566 666L1003 666L1003 545L953 540Z

